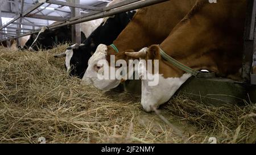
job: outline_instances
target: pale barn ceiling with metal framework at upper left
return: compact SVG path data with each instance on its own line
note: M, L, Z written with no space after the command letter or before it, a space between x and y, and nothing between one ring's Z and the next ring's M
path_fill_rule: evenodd
M36 30L42 26L48 26L53 22L66 22L71 18L72 7L63 5L65 3L73 3L80 6L85 6L79 9L80 15L88 14L89 12L95 11L93 9L101 8L106 6L112 0L49 0L48 3L43 3L39 7L36 7L31 12L32 7L35 7L40 2L46 0L1 0L0 1L0 40L16 36ZM56 5L57 3L57 5ZM89 9L86 6L89 6ZM23 7L23 11L22 11ZM93 9L90 9L90 8ZM20 14L27 13L23 18L16 17ZM6 23L15 20L12 24ZM21 23L21 24L20 24Z

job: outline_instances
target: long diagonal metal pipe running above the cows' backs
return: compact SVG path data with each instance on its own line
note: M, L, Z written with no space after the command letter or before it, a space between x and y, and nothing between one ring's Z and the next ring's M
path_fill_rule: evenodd
M138 2L138 3L135 3L135 4L123 6L123 7L118 8L118 9L104 11L104 12L98 12L97 14L93 14L93 15L87 15L87 16L82 17L81 19L73 20L71 22L65 22L65 23L59 24L57 26L50 26L49 29L55 29L55 28L59 28L59 27L62 27L62 26L67 26L67 25L87 22L89 20L103 18L105 16L112 16L112 15L115 15L115 14L119 14L121 12L127 12L127 11L131 11L131 10L139 9L139 8L142 8L142 7L150 6L150 5L155 5L157 3L166 2L166 1L169 1L169 0L147 0L147 1L141 1L141 2ZM22 36L31 35L33 33L38 33L39 31L40 30L36 30L34 32L24 33L23 35L16 36L16 37L22 37Z

